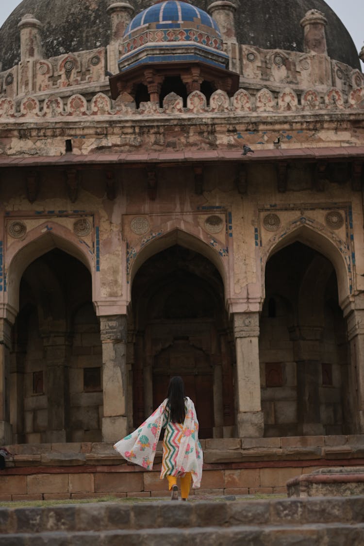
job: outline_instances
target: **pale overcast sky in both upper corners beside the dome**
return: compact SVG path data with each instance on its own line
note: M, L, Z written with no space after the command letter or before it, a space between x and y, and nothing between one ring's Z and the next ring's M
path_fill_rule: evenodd
M290 0L294 2L295 0ZM357 51L364 45L364 1L363 0L326 0L340 17L351 34ZM0 0L0 26L8 15L20 4L20 0ZM364 64L362 64L364 67Z

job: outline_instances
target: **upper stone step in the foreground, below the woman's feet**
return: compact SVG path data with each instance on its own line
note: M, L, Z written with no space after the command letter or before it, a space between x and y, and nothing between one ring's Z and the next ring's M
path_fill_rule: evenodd
M0 533L86 532L247 525L364 524L364 496L275 500L90 503L0 508Z

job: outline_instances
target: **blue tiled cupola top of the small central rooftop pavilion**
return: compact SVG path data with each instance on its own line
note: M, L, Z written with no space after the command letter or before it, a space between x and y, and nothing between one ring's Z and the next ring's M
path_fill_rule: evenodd
M214 30L214 34L220 37L216 21L206 11L196 8L192 4L180 2L179 0L158 2L150 8L141 11L130 22L124 37L128 38L130 33L151 24L156 29L165 29L182 28L183 23L192 23L196 30L199 30L200 26L211 28Z

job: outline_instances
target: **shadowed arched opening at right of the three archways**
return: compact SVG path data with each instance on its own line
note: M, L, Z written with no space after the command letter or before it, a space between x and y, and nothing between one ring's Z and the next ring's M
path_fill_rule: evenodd
M348 343L329 259L294 242L267 262L260 319L266 436L351 430Z

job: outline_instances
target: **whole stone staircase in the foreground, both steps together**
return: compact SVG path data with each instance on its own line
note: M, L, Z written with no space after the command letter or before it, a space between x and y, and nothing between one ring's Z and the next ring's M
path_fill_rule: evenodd
M362 546L364 496L0 508L0 546Z

